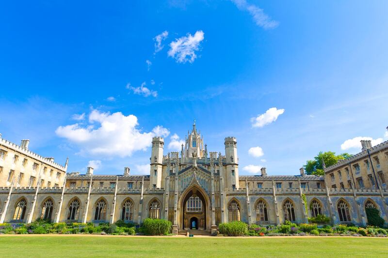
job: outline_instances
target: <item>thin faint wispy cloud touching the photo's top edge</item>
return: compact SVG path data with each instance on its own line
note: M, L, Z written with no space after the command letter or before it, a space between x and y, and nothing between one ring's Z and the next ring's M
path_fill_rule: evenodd
M246 0L231 0L237 8L242 11L247 11L252 15L253 20L256 22L256 25L262 27L263 29L274 29L279 25L279 22L271 19L270 16L266 15L263 9L254 4L249 4Z

